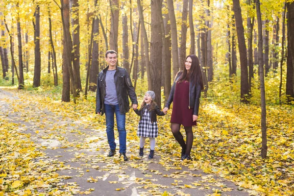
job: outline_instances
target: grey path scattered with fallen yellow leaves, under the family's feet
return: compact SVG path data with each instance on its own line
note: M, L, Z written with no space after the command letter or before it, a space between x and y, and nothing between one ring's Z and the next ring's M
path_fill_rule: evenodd
M31 134L30 140L46 153L39 160L56 169L63 179L58 186L73 194L93 196L172 195L248 196L245 190L216 175L189 169L192 163L171 161L170 154L156 152L155 158L137 156L136 144L127 143L130 160L107 157L105 130L82 121L58 116L37 100L20 100L17 93L0 89L0 119L17 123ZM116 141L118 144L118 141ZM118 151L118 150L117 150Z

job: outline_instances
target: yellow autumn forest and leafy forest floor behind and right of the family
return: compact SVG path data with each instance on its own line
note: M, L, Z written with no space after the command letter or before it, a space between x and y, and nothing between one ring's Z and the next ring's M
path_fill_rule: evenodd
M153 90L163 106L196 54L205 84L197 167L293 194L293 30L293 0L4 0L0 85L94 113L97 75L114 49L139 103ZM159 120L167 130L168 118Z

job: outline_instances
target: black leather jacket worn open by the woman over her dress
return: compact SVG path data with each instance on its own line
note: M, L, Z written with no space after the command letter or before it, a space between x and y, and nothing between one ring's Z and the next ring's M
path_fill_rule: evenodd
M170 96L168 98L168 101L165 105L165 107L170 109L170 106L172 104L173 101L173 96L174 96L174 92L175 92L175 86L176 86L176 82L178 81L178 79L180 78L180 76L182 75L182 71L178 72L177 75L175 76L175 80L172 84L172 89L171 89L171 93ZM199 104L200 104L200 96L201 96L201 85L199 83L194 83L193 81L190 81L190 89L189 89L189 108L193 108L193 115L197 115L198 116L198 111L199 111Z

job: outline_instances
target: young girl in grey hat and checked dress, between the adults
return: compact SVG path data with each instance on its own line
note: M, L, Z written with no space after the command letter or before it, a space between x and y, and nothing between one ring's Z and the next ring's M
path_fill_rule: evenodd
M137 131L137 136L140 136L140 156L144 155L143 151L146 138L150 138L150 154L148 159L152 159L154 156L155 138L158 136L156 114L158 116L167 114L167 112L160 111L158 105L153 101L154 98L155 93L153 91L147 91L140 110L134 110L140 116Z

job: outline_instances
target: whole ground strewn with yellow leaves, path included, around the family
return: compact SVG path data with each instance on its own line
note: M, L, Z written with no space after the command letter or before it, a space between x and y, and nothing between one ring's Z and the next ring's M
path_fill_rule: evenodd
M179 161L180 147L170 131L171 111L158 118L157 158L140 159L138 116L130 111L126 128L131 160L122 162L118 156L105 157L105 122L94 112L94 94L73 104L44 92L5 91L10 96L1 101L10 107L6 116L1 111L0 130L5 134L1 135L0 195L91 194L98 188L103 190L92 184L114 174L117 178L107 182L111 189L127 193L135 184L138 195L161 195L165 191L170 195L195 195L200 191L199 195L215 196L294 193L294 109L290 106L267 107L268 158L263 160L259 156L260 108L202 98L198 125L193 129L194 160L189 163ZM142 96L138 95L140 102ZM141 173L132 175L135 170ZM83 187L82 183L90 185Z

